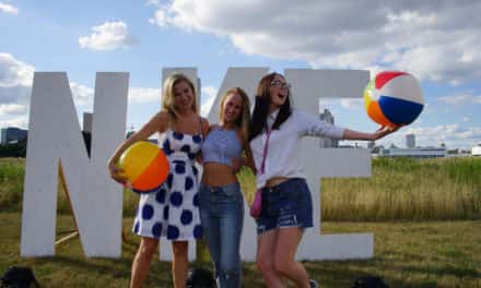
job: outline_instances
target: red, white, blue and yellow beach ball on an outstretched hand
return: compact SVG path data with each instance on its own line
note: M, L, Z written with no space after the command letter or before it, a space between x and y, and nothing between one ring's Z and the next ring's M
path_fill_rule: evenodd
M423 110L424 100L413 75L384 71L364 89L364 105L374 122L396 128L412 123Z

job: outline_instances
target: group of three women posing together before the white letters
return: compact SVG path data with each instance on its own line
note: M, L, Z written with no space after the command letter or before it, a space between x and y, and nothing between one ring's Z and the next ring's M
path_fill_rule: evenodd
M291 97L284 76L271 73L262 77L248 131L248 98L241 88L233 88L221 101L220 124L211 127L206 139L208 124L197 113L193 85L179 75L171 82L167 80L163 111L122 143L109 161L113 178L125 181L116 166L121 153L136 141L165 132L162 147L173 173L160 191L141 196L134 232L142 240L132 264L131 287L145 277L161 236L175 241L174 283L183 287L187 275L187 242L178 240L200 237L198 205L219 286L239 287L244 204L235 159L243 151L256 171L256 185L262 190L262 212L256 219L257 265L266 285L285 287L285 280L290 279L297 287L317 287L304 266L294 261L304 229L313 227L310 192L298 160L300 139L316 135L377 140L395 130L382 128L375 133L362 133L338 128L293 109ZM192 160L200 148L204 172L198 196ZM185 224L188 228L180 229Z

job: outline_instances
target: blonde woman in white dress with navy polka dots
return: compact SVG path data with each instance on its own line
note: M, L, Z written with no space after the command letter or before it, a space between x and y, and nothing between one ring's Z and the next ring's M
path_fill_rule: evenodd
M160 145L169 160L167 181L140 196L133 232L141 237L132 262L130 287L140 287L149 273L159 239L173 243L174 287L185 287L188 273L188 239L202 237L199 216L199 179L193 166L209 123L197 111L193 84L183 74L173 74L164 83L162 111L116 149L108 161L112 178L120 183L117 166L120 155L137 141L160 133Z

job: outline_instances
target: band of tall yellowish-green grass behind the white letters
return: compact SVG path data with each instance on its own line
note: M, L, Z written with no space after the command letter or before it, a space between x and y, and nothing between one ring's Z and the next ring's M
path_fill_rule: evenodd
M0 158L0 211L20 212L24 160ZM248 169L238 172L247 201L255 192ZM481 219L481 158L373 160L371 178L321 180L324 220L385 221ZM59 189L60 191L60 189ZM133 216L139 196L124 191L124 215ZM64 193L58 213L70 214Z

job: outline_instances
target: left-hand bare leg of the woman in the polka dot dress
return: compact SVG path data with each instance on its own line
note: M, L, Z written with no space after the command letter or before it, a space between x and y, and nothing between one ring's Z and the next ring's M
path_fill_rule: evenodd
M137 288L142 285L149 274L152 256L157 248L159 239L142 237L139 250L132 262L132 272L130 278L130 288Z

